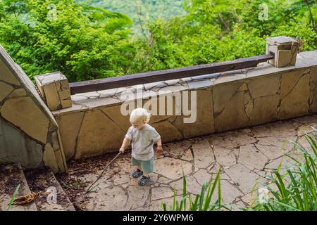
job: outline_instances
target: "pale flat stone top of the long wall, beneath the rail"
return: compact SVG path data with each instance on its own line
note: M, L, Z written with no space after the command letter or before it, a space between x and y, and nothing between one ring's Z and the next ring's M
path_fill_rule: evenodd
M61 110L52 111L54 116L75 113L78 111L87 111L97 108L104 108L113 105L120 105L123 101L120 100L120 94L123 91L135 92L137 89L144 91L183 91L207 89L219 84L248 79L251 77L260 77L263 75L274 75L280 72L291 72L298 69L315 68L317 67L317 50L305 51L298 53L297 63L294 66L285 68L275 68L268 63L259 63L256 68L247 68L242 70L233 70L230 72L220 72L210 75L201 75L197 77L187 77L182 79L170 79L164 82L154 82L147 84L139 84L135 86L120 87L116 89L108 89L104 91L92 91L87 93L75 94L71 96L73 106ZM137 100L137 97L133 101Z

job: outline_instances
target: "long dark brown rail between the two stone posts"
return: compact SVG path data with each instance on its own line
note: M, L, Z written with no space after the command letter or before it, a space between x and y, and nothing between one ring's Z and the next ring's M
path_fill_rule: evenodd
M221 63L194 65L185 68L157 70L151 72L137 73L133 75L124 75L120 77L108 77L103 79L87 80L83 82L73 82L69 84L70 93L79 94L89 91L101 91L123 86L132 86L136 84L161 82L168 79L180 79L185 77L195 77L199 75L209 75L217 72L226 72L230 70L253 68L256 67L259 63L266 62L267 60L273 58L274 56L271 55L254 56Z

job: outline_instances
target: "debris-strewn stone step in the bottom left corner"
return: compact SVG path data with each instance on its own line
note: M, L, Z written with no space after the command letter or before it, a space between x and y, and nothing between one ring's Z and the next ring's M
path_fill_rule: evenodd
M31 193L23 174L23 169L20 165L0 165L0 211L8 209L8 203L10 203L12 195L18 184L20 184L20 188L17 195L15 195L15 198ZM29 203L27 205L12 205L10 210L37 211L37 206L35 203Z

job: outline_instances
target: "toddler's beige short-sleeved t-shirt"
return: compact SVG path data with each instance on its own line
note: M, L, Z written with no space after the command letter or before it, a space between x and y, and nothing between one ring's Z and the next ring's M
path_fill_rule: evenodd
M131 126L125 134L125 138L132 141L132 157L136 160L147 161L154 157L153 145L161 139L161 136L154 127L145 124L142 129Z

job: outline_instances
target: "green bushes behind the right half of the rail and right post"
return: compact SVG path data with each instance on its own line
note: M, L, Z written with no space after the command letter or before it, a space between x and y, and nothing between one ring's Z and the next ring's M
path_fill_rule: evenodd
M268 18L259 14L268 7ZM265 53L266 37L299 37L303 49L316 49L303 1L192 0L187 14L149 23L149 36L135 41L136 56L128 72L162 70L213 63ZM317 4L311 4L313 10ZM306 19L304 19L306 18ZM316 20L317 16L315 16ZM267 20L266 20L267 19Z

